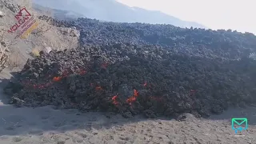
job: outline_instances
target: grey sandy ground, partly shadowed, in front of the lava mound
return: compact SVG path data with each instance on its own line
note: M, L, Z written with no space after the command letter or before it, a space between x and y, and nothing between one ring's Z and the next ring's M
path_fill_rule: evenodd
M10 78L0 74L2 86ZM1 87L2 87L1 86ZM0 89L1 90L1 89ZM122 118L106 113L56 110L54 106L15 108L0 91L1 144L255 144L256 107L230 109L210 118ZM231 118L248 118L240 136L231 130ZM244 136L241 136L244 135Z

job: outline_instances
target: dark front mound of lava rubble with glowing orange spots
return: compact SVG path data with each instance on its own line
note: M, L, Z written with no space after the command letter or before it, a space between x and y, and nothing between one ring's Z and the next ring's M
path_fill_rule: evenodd
M256 62L177 55L158 46L84 46L41 52L6 86L16 106L54 105L124 117L208 116L255 103Z

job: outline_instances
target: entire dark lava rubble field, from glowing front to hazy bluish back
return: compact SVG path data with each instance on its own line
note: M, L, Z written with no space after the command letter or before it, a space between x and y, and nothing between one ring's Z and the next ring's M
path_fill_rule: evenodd
M18 82L6 86L16 106L51 104L155 117L184 112L206 116L256 102L256 62L232 60L254 50L254 35L90 19L52 22L77 26L81 46L29 60ZM205 50L200 57L199 46ZM225 54L230 58L224 59Z

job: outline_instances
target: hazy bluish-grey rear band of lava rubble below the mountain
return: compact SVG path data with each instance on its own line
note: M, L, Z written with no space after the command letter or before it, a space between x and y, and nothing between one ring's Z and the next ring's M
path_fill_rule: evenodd
M58 23L58 22L57 22ZM89 18L60 22L81 30L80 41L87 44L114 42L162 46L177 54L206 58L239 59L255 52L254 34L231 30L182 29L171 25L99 22ZM65 24L64 24L65 23Z

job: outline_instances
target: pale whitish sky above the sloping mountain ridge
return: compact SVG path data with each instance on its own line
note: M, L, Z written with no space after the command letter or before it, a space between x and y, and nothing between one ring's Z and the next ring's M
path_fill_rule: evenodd
M160 10L211 29L256 34L256 0L117 0L128 6Z

